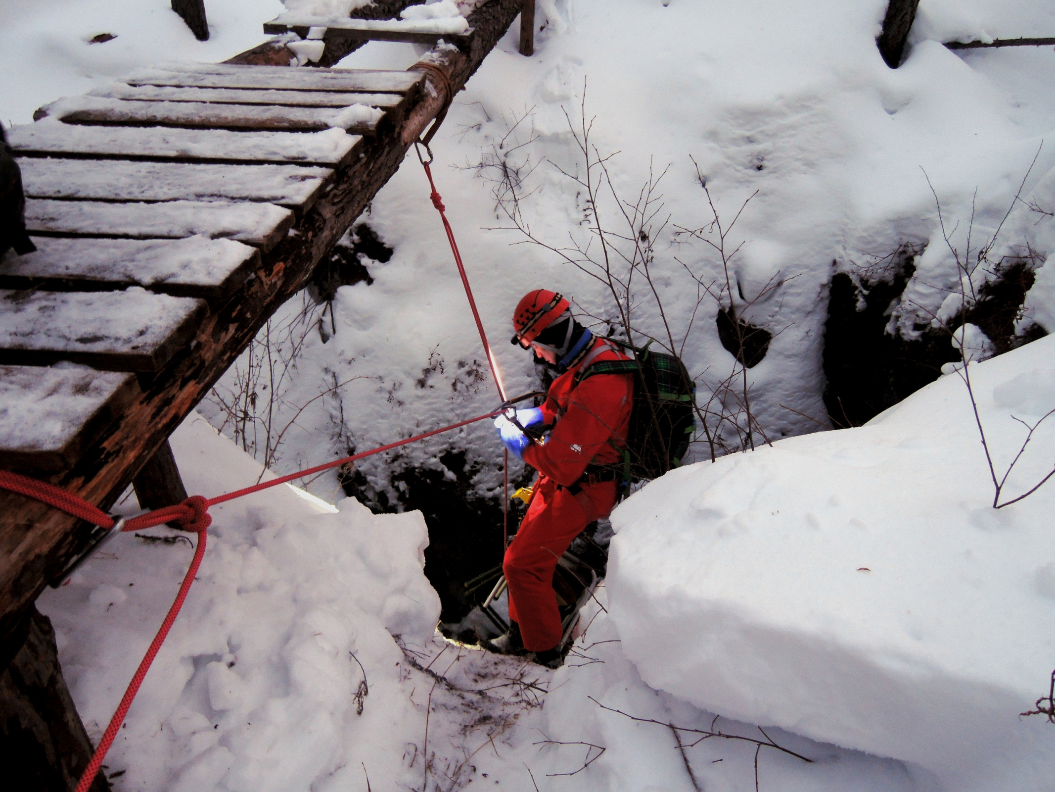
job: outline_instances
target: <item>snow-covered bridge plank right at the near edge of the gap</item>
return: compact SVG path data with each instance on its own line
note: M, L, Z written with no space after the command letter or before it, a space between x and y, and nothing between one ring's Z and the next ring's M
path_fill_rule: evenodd
M407 93L424 79L421 72L366 69L290 69L239 67L222 63L179 64L173 69L145 69L123 79L130 86L197 88L261 88L287 91L367 91Z

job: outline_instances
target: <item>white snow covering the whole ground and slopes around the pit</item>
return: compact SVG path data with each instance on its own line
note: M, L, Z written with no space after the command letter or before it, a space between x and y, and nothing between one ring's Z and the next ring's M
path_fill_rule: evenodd
M618 152L607 166L619 197L635 200L649 173L666 169L650 234L656 290L673 335L686 336L684 358L699 393L730 403L722 382L740 370L717 336L720 305L706 294L696 302L703 284L725 283L725 271L702 239L677 230L707 237L712 221L696 164L725 227L754 195L728 239L728 249L738 251L722 306L737 300L748 321L774 334L766 358L745 377L773 447L756 438L759 451L687 467L620 507L609 581L584 615L589 629L563 670L532 672L539 690L505 681L519 673L515 662L431 635L437 605L420 571L417 515L370 517L348 501L339 514L314 514L311 502L288 490L225 506L210 539L207 582L192 590L122 730L128 738L114 749L111 767L128 769L115 779L120 790L326 792L365 788L363 774L372 788L421 789L426 717L428 748L437 751L429 786L442 780L444 789L472 779L518 792L692 790L686 761L704 789L753 788L755 743L709 737L686 748L683 760L664 723L768 735L817 760L764 748L763 790L1048 789L1051 725L1018 713L1047 692L1052 667L1043 625L1052 618L1055 559L1042 531L1055 485L991 508L957 373L866 427L807 435L827 421L821 353L836 271L867 275L902 245L920 250L916 276L889 314L890 329L910 338L973 299L960 290L977 294L992 267L964 279L963 263L999 230L989 265L1022 256L1036 267L1020 328L1055 329L1055 270L1046 263L1055 254L1055 51L941 46L951 38L1055 35L1052 10L1030 0L922 0L905 62L893 71L875 46L885 5L548 0L538 5L532 58L517 54L514 25L431 144L437 186L492 340L509 333L512 306L537 286L573 297L583 313L612 316L610 297L590 274L541 246L515 244L523 241L517 232L495 230L510 222L496 206L493 180L512 169L524 180L523 218L543 242L596 239L580 186L558 170L583 173L568 118L577 122L584 106L588 122L595 118L597 153ZM286 7L347 13L342 3ZM258 43L260 23L282 10L214 0L214 38L199 44L164 0L8 2L0 10L8 41L0 69L13 75L0 87L7 119L27 122L42 103L103 87L132 68L157 67L159 52L199 84L215 84L219 75L258 86L258 70L190 61ZM249 21L230 22L238 15ZM118 38L85 43L104 29ZM341 65L401 70L420 57L421 48L376 42ZM309 71L286 79L303 87ZM156 69L143 74L173 79ZM345 84L340 73L327 77L331 88ZM223 142L224 150L235 139L264 150L264 138L229 134L237 138ZM166 145L177 150L189 138ZM602 195L597 208L621 229L614 196ZM275 327L310 331L277 401L279 425L296 418L271 455L283 473L497 401L414 155L363 220L394 248L386 263L364 260L372 284L342 287L332 305L304 317L303 303L291 301L274 320ZM636 298L635 324L664 338L650 291ZM968 351L987 354L974 331L961 335ZM967 370L998 471L1024 436L1012 416L1035 421L1055 406L1051 347L1037 341ZM511 393L537 386L522 352L504 342L494 348ZM307 403L335 382L346 384ZM223 422L215 403L200 409ZM1052 426L1037 431L1005 497L1050 469ZM263 458L263 446L239 439ZM727 439L736 445L735 436ZM191 491L214 494L260 475L200 419L190 419L174 445ZM695 448L705 458L706 445ZM394 476L415 467L443 472L446 451L465 451L466 470L478 466L468 482L474 494L497 496L499 449L485 426L371 457L359 470L396 501ZM511 472L515 477L519 467ZM305 486L326 502L341 494L333 474ZM401 530L404 542L389 539ZM360 542L359 531L369 541ZM117 559L94 560L44 602L93 736L189 557L186 547L123 541L131 545L118 546ZM136 596L111 600L127 582ZM416 603L394 593L411 589ZM102 593L92 604L96 590ZM402 614L396 621L413 626L388 623L382 600ZM402 630L400 640L418 654L399 650L386 627ZM370 680L362 716L353 712L360 672L347 649ZM435 663L430 671L457 684L409 666L410 657L422 667ZM485 701L475 692L495 685L530 691L543 705ZM499 721L513 712L503 706L515 717ZM481 710L501 727L485 725ZM685 744L701 736L679 734ZM598 748L587 753L582 743ZM557 775L591 759L574 776Z

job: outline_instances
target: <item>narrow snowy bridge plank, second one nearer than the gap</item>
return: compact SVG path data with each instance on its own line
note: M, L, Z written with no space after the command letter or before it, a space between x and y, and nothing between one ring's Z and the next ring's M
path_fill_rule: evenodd
M275 91L242 88L178 88L175 86L129 86L115 82L96 89L92 96L138 101L208 101L219 105L280 105L304 108L346 108L366 105L391 109L403 101L400 94L346 93L341 91Z

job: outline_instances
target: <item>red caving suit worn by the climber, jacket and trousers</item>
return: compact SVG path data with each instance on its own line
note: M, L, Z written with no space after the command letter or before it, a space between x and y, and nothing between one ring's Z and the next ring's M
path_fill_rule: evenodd
M539 476L528 513L505 551L503 570L510 586L510 618L520 624L530 652L551 649L561 638L553 590L557 560L583 528L608 516L615 505L615 482L582 482L577 495L558 485L574 485L587 465L621 461L621 453L610 440L622 448L630 426L632 374L595 374L577 388L573 386L575 374L583 363L627 359L612 344L596 339L582 360L550 385L542 404L543 422L556 426L545 445L532 445L523 452L524 461Z

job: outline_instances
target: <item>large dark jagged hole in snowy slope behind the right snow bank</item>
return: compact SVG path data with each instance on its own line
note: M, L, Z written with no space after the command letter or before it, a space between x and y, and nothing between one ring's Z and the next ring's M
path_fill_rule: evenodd
M835 427L867 422L936 380L942 364L960 359L944 329L917 326L922 331L918 340L886 332L891 304L915 271L915 257L905 250L893 258L886 271L861 279L867 294L846 274L831 279L823 362L827 378L824 403ZM995 280L981 288L977 304L952 320L951 328L964 321L978 325L997 353L1043 336L1039 325L1023 336L1015 335L1015 320L1034 280L1029 264L1010 262L997 267L994 275Z

